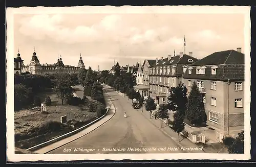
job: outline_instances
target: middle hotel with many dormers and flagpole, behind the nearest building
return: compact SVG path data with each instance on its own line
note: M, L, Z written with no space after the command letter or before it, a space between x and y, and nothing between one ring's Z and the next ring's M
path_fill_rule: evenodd
M180 55L168 55L167 58L156 59L150 66L148 81L145 79L144 82L149 84L150 96L157 104L167 104L169 87L175 87L179 82L183 82L184 69L196 61L198 59L194 58L191 52L189 55L180 52ZM146 77L146 74L144 75Z

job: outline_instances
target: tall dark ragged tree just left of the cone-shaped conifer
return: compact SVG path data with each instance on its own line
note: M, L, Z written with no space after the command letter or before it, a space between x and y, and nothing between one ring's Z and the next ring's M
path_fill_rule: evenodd
M177 87L169 88L168 96L168 109L172 111L180 111L180 114L185 117L185 112L187 110L187 88L180 82Z

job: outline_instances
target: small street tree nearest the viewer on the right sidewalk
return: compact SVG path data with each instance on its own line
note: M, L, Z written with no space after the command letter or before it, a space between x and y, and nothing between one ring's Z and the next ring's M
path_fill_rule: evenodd
M184 123L184 114L183 111L179 109L174 113L174 121L169 121L170 128L178 133L178 138L180 141L179 133L182 132L185 128Z

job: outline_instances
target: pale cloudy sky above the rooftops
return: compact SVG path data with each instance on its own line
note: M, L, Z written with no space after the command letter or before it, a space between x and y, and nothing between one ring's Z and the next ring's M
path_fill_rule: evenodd
M14 15L14 57L29 64L34 48L41 64L58 57L86 68L120 66L193 52L196 58L244 47L243 14L54 13ZM8 24L7 24L8 26Z

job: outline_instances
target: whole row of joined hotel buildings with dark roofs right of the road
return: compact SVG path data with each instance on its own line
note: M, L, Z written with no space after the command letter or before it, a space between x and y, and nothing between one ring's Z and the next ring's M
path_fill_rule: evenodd
M157 104L167 104L169 87L182 82L189 94L191 85L196 82L205 106L207 125L216 133L237 135L244 129L244 70L241 48L215 52L200 60L191 52L168 55L144 60L143 89Z

